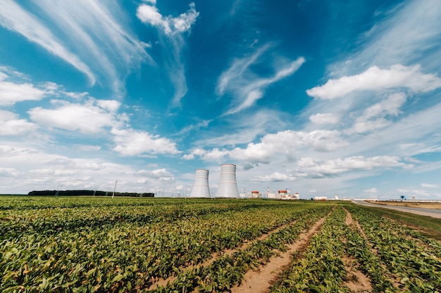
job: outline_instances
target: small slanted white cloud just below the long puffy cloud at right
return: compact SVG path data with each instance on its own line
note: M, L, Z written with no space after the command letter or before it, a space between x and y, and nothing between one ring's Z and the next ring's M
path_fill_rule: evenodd
M375 103L364 110L364 113L357 117L354 125L344 132L346 134L363 134L389 126L392 124L392 121L386 119L386 117L399 115L399 108L406 103L406 100L407 96L405 93L392 93L385 100Z

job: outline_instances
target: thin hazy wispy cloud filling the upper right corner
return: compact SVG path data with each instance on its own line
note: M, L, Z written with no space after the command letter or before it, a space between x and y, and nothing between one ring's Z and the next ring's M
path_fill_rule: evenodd
M337 76L358 72L359 68L378 65L420 63L435 71L440 68L441 2L411 0L397 4L391 15L375 22L361 36L362 46L352 56L330 67Z

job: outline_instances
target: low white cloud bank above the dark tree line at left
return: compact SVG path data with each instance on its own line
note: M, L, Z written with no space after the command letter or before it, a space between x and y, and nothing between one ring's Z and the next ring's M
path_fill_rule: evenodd
M0 181L4 193L56 189L58 185L63 185L63 189L111 190L117 178L118 190L154 192L156 185L171 188L168 184L175 181L170 171L158 167L138 169L100 158L66 157L6 144L0 145L0 162L0 176L8 178Z

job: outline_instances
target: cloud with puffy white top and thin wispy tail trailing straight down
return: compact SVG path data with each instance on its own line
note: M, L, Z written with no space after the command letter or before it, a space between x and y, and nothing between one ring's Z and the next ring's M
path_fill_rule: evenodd
M158 29L162 46L166 48L166 67L168 67L168 77L175 86L175 93L170 101L170 108L180 108L180 100L187 93L187 82L185 79L185 64L182 61L181 51L185 46L182 33L190 32L192 25L196 22L199 12L196 11L194 3L190 4L190 9L181 13L178 17L171 15L163 16L156 8L156 1L147 1L151 4L141 4L137 8L137 18L147 25Z

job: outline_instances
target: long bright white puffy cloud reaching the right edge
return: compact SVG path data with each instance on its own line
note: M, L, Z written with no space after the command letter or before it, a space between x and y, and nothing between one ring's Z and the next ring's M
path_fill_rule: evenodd
M414 92L428 92L440 87L441 78L435 74L424 74L420 65L397 64L388 70L373 66L361 74L329 79L323 86L316 86L306 93L314 98L333 99L353 91L407 88Z

